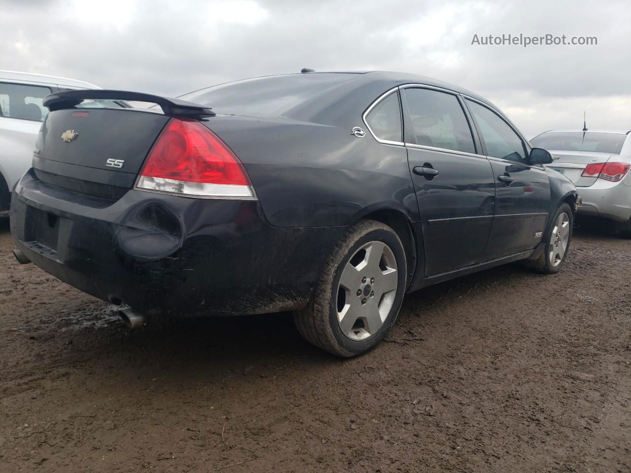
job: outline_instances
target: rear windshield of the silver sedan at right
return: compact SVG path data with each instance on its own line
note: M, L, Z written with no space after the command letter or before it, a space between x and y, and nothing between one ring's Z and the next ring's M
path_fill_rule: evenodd
M619 155L627 135L620 133L564 132L543 133L530 140L536 148L557 151L593 151Z

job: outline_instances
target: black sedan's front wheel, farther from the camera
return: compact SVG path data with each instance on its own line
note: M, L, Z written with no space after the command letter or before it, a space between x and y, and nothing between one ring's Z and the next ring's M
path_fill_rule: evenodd
M541 274L558 272L565 262L572 242L572 225L574 214L568 204L561 204L555 212L549 228L546 230L546 245L538 259L534 261L535 269Z

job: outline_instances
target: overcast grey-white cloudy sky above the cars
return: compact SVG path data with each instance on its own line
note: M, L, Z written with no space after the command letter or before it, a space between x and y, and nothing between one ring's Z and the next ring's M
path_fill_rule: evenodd
M0 0L0 69L176 96L232 79L406 71L487 97L527 137L631 129L625 1ZM477 45L503 34L597 45Z

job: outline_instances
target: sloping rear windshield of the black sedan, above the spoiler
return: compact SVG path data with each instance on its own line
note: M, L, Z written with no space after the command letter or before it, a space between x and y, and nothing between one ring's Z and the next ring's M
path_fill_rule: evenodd
M220 114L276 114L338 86L355 74L290 74L230 82L181 96Z

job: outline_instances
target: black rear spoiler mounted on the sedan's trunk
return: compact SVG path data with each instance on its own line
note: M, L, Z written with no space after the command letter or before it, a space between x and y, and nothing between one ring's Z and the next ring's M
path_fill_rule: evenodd
M103 89L82 89L55 92L45 96L43 105L51 112L74 108L83 100L137 100L138 102L151 102L160 105L165 115L192 115L212 117L215 114L211 108L199 103L187 102L179 98L168 98L149 93L130 92L126 90L103 90Z

